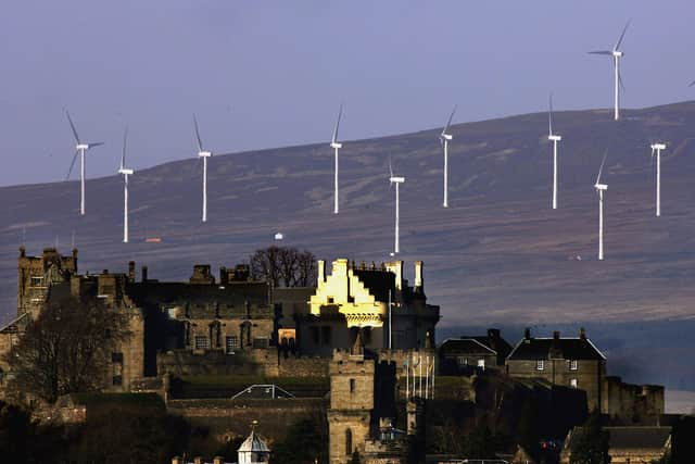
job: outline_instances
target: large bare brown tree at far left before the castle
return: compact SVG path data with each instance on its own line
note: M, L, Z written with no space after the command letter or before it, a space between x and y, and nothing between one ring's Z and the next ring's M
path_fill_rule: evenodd
M48 303L4 356L10 390L52 403L61 394L102 388L126 327L122 315L98 300Z

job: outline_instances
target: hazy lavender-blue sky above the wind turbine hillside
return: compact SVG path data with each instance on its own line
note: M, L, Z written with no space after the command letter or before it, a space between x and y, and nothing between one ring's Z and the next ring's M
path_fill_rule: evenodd
M0 185L61 181L74 153L115 174L193 158L379 137L612 104L626 22L627 108L695 98L688 0L8 0L0 16ZM76 178L77 172L73 173Z

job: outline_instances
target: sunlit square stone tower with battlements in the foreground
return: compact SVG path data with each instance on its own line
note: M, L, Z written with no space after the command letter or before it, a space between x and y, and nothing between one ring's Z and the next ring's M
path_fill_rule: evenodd
M330 363L329 463L346 464L364 452L374 410L375 362L336 350Z

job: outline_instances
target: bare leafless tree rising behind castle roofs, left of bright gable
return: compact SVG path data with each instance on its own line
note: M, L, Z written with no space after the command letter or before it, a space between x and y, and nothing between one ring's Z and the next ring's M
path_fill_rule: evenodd
M251 275L273 287L309 287L316 284L316 258L296 248L268 247L249 260Z

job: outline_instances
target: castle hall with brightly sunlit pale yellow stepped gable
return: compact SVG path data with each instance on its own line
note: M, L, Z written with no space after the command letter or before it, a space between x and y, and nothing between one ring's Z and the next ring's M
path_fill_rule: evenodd
M334 348L350 349L358 336L367 350L432 348L440 309L427 304L420 261L415 285L408 286L403 261L356 266L339 259L330 275L318 262L309 313L298 318L301 352L330 356Z

